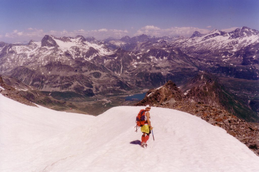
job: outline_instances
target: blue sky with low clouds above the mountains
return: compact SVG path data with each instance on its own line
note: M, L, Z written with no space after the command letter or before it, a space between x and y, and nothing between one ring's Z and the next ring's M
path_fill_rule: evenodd
M83 35L191 36L197 30L259 30L258 0L0 0L0 41Z

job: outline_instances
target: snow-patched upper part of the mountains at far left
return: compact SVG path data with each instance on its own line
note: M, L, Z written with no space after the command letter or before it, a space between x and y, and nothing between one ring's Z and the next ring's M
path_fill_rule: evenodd
M44 40L46 39L51 40ZM46 46L42 42L30 41L28 45L22 44L10 44L6 50L5 59L2 67L10 68L22 65L46 65L49 61L61 61L66 62L77 57L85 57L90 48L93 52L85 60L91 60L95 56L105 56L112 54L102 42L91 43L85 40L83 36L77 36L76 38L60 37L46 35L43 40L45 44L51 44ZM55 45L53 45L55 44ZM14 66L15 65L15 66Z

